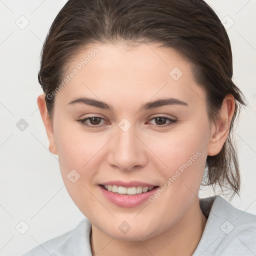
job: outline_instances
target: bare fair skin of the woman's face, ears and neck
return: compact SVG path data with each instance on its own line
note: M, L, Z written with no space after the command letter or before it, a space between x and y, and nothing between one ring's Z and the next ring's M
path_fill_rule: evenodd
M197 196L206 157L217 154L227 138L234 98L226 95L220 117L211 123L204 90L195 83L191 64L174 49L152 43L136 47L94 43L75 56L66 74L94 48L98 54L55 96L52 119L45 95L37 99L49 150L58 155L67 191L92 223L92 255L109 256L113 251L124 256L192 255L206 223ZM169 75L173 67L183 73L176 81ZM68 104L82 96L111 104L113 110ZM188 105L139 111L143 103L170 96ZM91 115L105 120L98 121L96 128L76 121ZM169 123L152 119L159 115L177 121L157 127ZM118 126L123 118L131 123L125 132ZM200 156L154 202L122 208L98 187L109 180L161 187L196 151ZM72 169L80 174L74 183L67 178ZM118 228L123 221L131 227L127 233Z

